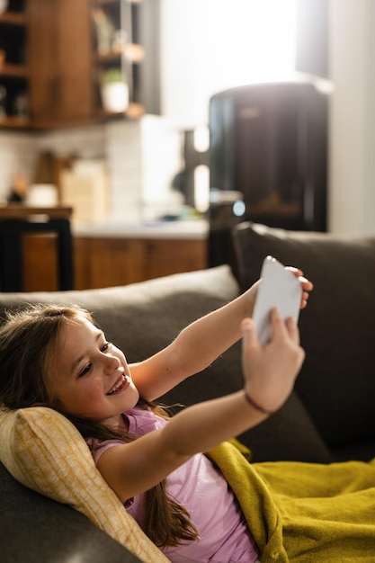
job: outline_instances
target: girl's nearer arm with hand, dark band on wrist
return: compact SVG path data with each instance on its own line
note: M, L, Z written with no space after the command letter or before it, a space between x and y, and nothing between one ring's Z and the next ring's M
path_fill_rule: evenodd
M273 336L261 347L251 319L242 323L245 390L188 407L161 430L104 451L98 469L122 502L153 487L192 455L245 432L288 398L304 359L299 331L272 312Z

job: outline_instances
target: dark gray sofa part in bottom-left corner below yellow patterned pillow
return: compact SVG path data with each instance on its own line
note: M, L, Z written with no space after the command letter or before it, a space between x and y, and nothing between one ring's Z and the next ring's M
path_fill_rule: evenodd
M83 514L17 483L0 463L2 563L136 563Z

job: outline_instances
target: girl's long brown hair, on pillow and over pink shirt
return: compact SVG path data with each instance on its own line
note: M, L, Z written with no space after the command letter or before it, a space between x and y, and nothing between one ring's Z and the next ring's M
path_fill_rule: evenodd
M79 307L34 305L7 313L0 326L0 403L9 409L35 405L52 407L67 416L84 438L121 438L129 442L134 438L128 434L120 434L92 419L70 416L58 406L50 374L59 338L63 326L82 318L94 324L90 313ZM142 398L138 407L167 416L165 409ZM145 498L145 532L158 547L173 547L182 541L199 539L186 509L168 495L165 480L149 489Z

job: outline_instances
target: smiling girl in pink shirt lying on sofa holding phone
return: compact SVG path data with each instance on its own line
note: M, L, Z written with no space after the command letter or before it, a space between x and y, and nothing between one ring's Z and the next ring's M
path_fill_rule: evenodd
M312 284L292 270L304 308ZM103 478L174 562L260 557L227 482L201 454L278 410L303 362L298 327L291 318L284 323L277 309L271 342L258 343L251 320L256 291L257 284L132 365L81 308L29 308L0 328L0 403L53 407L76 424ZM241 336L244 389L167 420L152 401Z

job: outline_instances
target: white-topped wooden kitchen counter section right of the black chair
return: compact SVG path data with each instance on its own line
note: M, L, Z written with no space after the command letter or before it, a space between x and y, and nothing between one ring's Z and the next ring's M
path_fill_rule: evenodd
M207 267L201 219L73 225L76 289L111 287Z

